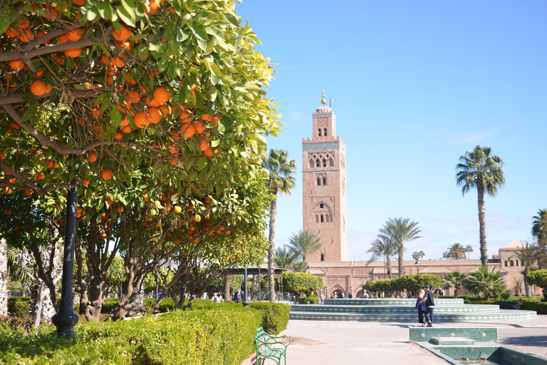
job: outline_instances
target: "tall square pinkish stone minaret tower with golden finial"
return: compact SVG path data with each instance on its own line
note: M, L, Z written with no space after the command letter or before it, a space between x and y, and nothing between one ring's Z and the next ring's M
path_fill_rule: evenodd
M336 115L325 106L312 113L313 137L302 140L303 230L321 237L323 249L308 262L348 260L345 144L336 135Z

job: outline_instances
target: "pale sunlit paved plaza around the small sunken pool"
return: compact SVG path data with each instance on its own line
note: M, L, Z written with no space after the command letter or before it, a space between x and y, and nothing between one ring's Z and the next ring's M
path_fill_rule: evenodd
M283 334L293 340L287 364L447 364L409 343L408 322L301 321L291 319ZM435 327L498 327L499 342L524 352L547 356L547 316L503 322L444 322Z

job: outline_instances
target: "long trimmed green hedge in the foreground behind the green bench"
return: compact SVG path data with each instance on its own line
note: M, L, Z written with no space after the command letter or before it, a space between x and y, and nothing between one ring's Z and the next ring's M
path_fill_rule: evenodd
M53 325L30 335L0 324L0 364L241 364L254 352L261 312L236 307L176 311L75 326L58 339Z

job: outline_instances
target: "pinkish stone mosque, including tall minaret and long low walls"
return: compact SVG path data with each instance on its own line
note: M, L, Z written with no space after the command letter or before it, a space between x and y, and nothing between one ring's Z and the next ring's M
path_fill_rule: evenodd
M370 280L389 279L382 261L348 261L348 209L346 195L346 149L342 138L336 135L336 115L326 106L323 92L322 106L312 113L312 138L302 140L303 230L315 232L323 247L307 257L308 272L322 277L324 292L338 292L361 297L363 284ZM512 257L521 242L512 241L489 259L497 267L511 294L523 293L523 276L519 259ZM479 259L405 260L406 274L439 274L451 271L473 272L481 265ZM397 261L391 263L392 277L399 276ZM533 287L541 294L541 288ZM441 288L437 288L440 291ZM454 294L444 289L445 295Z

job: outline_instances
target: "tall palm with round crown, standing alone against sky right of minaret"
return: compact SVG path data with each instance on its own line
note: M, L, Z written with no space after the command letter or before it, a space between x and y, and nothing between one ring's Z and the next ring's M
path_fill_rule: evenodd
M462 186L465 195L472 187L476 187L479 205L479 239L481 242L481 264L488 262L486 250L486 217L484 216L484 193L495 197L498 187L505 184L505 173L501 168L505 161L496 155L491 155L492 149L477 145L473 152L460 156L456 165L456 182Z

